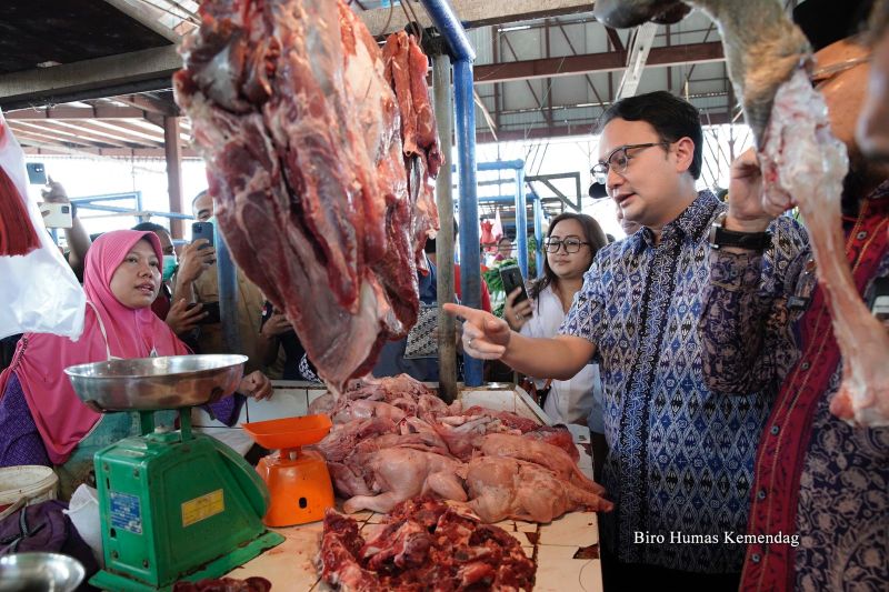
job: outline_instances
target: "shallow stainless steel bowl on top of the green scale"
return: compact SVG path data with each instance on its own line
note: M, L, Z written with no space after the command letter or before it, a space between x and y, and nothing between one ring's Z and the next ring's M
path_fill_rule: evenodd
M246 355L171 355L72 365L64 372L80 400L104 413L216 401L234 392L246 361Z

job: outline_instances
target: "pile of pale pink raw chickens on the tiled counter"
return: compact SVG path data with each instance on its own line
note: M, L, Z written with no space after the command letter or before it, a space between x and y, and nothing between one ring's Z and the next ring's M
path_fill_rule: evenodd
M333 428L318 444L343 510L389 512L429 494L461 502L482 521L550 522L573 510L612 508L578 468L565 428L481 407L448 405L406 374L356 381L310 413Z

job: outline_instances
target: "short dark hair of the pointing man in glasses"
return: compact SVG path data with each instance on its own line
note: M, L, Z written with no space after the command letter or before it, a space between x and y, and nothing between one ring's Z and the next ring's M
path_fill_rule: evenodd
M693 179L701 175L703 160L703 130L698 110L688 101L673 97L665 90L628 97L616 102L599 118L596 133L602 133L612 119L627 121L645 121L658 132L661 140L676 142L681 138L691 138L695 142L695 155L688 172Z

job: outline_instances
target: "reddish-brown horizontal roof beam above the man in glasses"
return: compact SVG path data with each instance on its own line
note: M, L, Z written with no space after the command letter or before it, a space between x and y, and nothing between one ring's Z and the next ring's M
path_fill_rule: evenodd
M705 63L725 60L722 43L689 43L669 48L652 48L648 54L649 67ZM627 52L603 51L583 56L565 56L518 62L478 64L473 69L476 84L492 84L529 78L575 76L588 72L609 72L627 68Z

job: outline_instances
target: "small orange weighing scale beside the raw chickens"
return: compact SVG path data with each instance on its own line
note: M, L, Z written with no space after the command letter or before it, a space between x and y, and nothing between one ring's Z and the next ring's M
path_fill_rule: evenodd
M267 526L292 526L324 518L333 506L333 484L327 461L317 451L301 446L320 442L330 431L327 415L306 415L242 423L257 444L274 450L257 464L271 503L262 522Z

